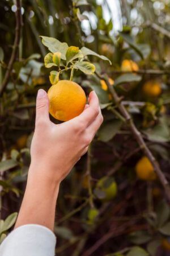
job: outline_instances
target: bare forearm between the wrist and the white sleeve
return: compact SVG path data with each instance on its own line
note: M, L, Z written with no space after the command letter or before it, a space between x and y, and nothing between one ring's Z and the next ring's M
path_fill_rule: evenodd
M25 224L39 224L53 230L58 191L59 184L30 167L15 228Z

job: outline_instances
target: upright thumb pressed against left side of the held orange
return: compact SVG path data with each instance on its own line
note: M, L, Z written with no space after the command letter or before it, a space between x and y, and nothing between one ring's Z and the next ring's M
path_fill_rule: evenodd
M36 100L36 125L39 121L49 121L49 100L45 90L40 89Z

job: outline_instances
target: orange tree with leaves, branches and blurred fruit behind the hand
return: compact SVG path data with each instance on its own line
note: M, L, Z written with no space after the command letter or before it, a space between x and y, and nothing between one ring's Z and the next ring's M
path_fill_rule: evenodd
M1 241L27 179L37 89L70 79L96 91L104 123L62 183L57 254L168 255L170 6L122 0L115 14L110 2L1 2Z

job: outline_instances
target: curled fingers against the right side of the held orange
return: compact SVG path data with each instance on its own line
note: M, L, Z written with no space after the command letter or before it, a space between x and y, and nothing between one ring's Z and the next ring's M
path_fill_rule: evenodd
M93 90L89 95L89 106L84 108L82 114L74 118L74 121L84 123L87 127L99 114L99 99Z

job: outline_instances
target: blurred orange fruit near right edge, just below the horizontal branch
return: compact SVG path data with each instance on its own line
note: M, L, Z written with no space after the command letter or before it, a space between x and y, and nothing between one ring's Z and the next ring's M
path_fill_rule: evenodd
M162 88L158 81L147 81L142 89L143 93L148 97L156 97L162 93Z

